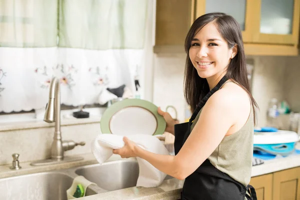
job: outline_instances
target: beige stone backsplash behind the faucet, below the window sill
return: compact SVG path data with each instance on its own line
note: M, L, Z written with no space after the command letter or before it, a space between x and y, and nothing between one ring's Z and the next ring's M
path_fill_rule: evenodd
M90 143L100 133L99 122L61 125L62 140L84 141L84 146L65 151L64 155L90 153ZM50 157L54 127L39 127L0 131L0 164L11 163L12 153L19 153L19 161Z

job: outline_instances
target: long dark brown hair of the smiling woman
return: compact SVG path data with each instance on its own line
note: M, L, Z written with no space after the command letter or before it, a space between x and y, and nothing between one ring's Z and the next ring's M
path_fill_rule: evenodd
M189 58L189 48L191 40L199 28L213 21L223 39L228 43L228 48L237 45L237 54L230 60L226 74L228 79L232 79L248 93L251 100L254 114L254 124L256 122L255 107L257 106L249 87L246 69L246 58L243 48L241 31L237 21L230 15L221 12L207 13L199 16L191 25L185 38L185 70L184 70L184 97L194 111L199 101L209 92L206 78L201 78L193 67Z

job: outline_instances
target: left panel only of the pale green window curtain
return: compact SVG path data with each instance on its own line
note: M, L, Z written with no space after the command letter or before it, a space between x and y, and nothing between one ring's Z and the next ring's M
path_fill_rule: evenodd
M57 0L0 0L0 46L57 46Z

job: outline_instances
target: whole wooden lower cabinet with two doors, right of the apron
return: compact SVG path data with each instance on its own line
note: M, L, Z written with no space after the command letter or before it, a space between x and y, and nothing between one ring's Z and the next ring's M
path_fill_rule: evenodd
M300 167L254 176L258 200L300 200Z

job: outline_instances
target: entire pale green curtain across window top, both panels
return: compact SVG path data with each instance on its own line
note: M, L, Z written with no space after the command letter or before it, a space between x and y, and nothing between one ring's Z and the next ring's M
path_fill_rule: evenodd
M147 0L0 0L0 46L140 49Z

